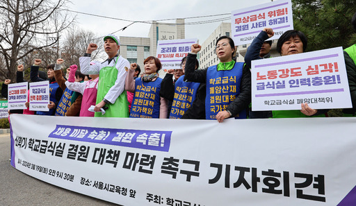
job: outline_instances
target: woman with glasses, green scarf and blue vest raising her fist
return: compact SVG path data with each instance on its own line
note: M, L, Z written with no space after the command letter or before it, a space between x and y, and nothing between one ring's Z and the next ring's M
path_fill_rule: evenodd
M185 80L207 83L207 98L205 98L206 119L217 119L223 122L229 117L246 118L246 109L251 102L250 67L244 67L243 62L235 62L234 41L222 36L216 41L216 55L220 60L218 65L207 69L195 70L192 61L202 49L199 44L191 46L186 60Z

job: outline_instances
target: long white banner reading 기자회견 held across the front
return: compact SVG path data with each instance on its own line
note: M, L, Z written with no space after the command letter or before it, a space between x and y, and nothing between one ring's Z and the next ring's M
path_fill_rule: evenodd
M120 205L356 204L353 117L10 120L16 169Z

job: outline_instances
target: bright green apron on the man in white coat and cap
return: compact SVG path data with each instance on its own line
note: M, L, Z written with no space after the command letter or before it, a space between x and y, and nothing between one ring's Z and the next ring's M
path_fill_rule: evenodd
M99 85L97 87L97 104L103 101L108 90L115 85L115 81L118 78L118 69L115 65L113 67L104 67L99 71ZM102 112L95 112L94 117L129 117L129 102L127 101L127 93L124 90L120 96L116 99L115 103L106 103L104 106L108 107L105 110L105 114Z

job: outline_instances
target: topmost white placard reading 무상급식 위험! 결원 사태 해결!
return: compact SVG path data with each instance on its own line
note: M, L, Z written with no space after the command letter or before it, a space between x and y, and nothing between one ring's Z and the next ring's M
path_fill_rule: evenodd
M231 31L235 45L250 44L266 27L275 31L268 40L279 39L284 31L293 29L291 5L291 0L280 0L232 11Z

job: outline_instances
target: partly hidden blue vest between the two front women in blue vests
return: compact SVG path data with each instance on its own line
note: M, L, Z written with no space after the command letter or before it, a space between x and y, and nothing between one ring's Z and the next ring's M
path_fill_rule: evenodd
M200 83L185 82L184 75L175 83L175 97L173 98L170 119L180 119L186 110L191 107L197 96Z

